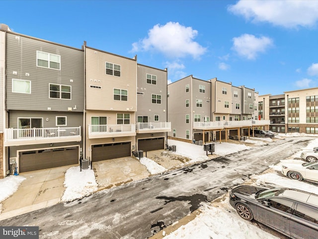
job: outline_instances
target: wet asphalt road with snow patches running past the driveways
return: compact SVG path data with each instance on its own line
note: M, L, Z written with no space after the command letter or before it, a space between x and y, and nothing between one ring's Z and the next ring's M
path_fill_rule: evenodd
M313 138L277 140L227 157L104 190L90 197L0 221L39 226L40 238L147 239L251 174L291 156Z

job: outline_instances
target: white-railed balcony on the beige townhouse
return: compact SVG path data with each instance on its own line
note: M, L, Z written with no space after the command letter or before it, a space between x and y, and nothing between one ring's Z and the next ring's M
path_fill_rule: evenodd
M136 125L131 124L88 124L88 138L135 136Z

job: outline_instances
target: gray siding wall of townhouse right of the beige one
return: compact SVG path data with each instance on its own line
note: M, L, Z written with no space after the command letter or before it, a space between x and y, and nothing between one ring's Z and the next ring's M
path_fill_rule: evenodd
M157 84L147 83L146 74L157 76ZM152 103L152 94L161 96L161 104ZM148 122L154 122L155 115L159 122L167 121L167 71L138 64L136 122L138 116L148 116Z

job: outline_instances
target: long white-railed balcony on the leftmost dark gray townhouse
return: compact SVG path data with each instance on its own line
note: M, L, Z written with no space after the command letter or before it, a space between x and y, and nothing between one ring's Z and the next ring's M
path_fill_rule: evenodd
M81 141L79 127L6 128L4 146Z

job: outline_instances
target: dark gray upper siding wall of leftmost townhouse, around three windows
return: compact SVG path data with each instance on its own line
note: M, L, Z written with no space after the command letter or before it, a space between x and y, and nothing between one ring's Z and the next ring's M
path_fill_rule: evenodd
M51 111L67 112L76 106L73 111L83 112L82 50L8 32L6 51L7 109L47 111L51 108ZM61 70L37 67L37 51L60 55ZM31 94L12 93L12 79L31 81ZM71 86L72 100L50 99L50 83Z

